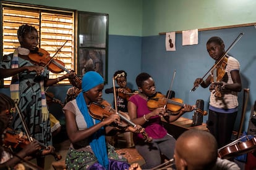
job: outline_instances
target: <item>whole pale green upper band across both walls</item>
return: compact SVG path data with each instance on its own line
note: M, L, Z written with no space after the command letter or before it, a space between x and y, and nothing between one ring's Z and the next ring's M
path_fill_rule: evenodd
M255 0L12 0L109 14L109 34L161 32L256 22Z

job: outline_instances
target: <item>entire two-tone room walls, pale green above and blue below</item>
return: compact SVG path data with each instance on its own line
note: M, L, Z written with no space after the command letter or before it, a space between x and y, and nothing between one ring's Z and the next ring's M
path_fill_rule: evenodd
M147 71L155 79L158 91L165 93L171 83L173 71L177 70L173 84L176 97L189 104L194 104L197 99L203 99L205 109L208 105L208 89L198 87L195 92L189 92L194 79L203 76L213 65L213 60L205 49L205 42L211 36L221 36L227 48L241 31L244 32L244 36L233 47L230 54L241 63L243 87L250 88L250 100L244 121L244 127L247 129L249 109L256 100L254 78L256 30L254 26L199 32L199 44L195 46L181 46L181 34L177 34L176 52L166 52L165 37L157 34L163 31L255 22L255 10L252 5L255 4L254 1L247 0L246 3L239 0L161 0L161 3L156 0L78 0L75 1L76 3L66 0L12 1L109 14L108 84L106 87L112 86L111 78L114 71L124 69L128 73L130 88L135 89L135 77L141 71ZM49 91L54 92L56 97L63 101L69 87L53 86ZM9 89L0 89L0 92L9 94ZM104 94L103 97L108 102L113 101L111 94ZM241 108L242 92L239 97ZM191 118L192 113L186 113L184 116ZM204 118L204 121L206 120L207 116ZM237 124L239 124L239 116L237 116Z

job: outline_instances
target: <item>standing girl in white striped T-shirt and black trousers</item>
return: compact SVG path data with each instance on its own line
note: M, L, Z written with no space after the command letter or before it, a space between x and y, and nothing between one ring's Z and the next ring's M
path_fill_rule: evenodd
M217 36L208 39L207 51L210 57L217 62L225 52L223 40ZM219 148L228 144L231 140L238 110L237 92L242 89L239 62L229 55L226 55L225 58L228 61L224 66L225 68L223 68L223 78L218 79L219 83L216 84L212 81L212 75L209 75L204 81L202 78L197 78L194 82L196 87L199 84L203 88L210 86L211 95L207 127L211 134L215 136ZM223 65L223 63L221 64ZM215 94L216 86L217 89L220 89L219 96Z

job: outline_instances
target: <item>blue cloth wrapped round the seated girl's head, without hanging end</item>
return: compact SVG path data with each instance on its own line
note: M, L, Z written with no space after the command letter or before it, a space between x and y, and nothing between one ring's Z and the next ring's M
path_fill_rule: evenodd
M88 71L82 79L82 92L87 92L102 83L104 83L104 79L99 73L96 71Z

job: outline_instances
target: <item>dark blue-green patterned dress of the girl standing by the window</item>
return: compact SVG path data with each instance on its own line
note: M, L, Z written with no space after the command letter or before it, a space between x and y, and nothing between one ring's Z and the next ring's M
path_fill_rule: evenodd
M4 55L0 68L11 68L11 55ZM19 67L32 66L29 60L19 57ZM43 79L49 78L49 70L45 69ZM30 131L30 136L45 145L52 145L51 126L49 118L47 121L42 121L41 114L41 89L40 81L37 80L34 71L28 73L23 71L19 73L19 108L23 114L25 122ZM25 132L19 114L14 115L12 127L16 131Z

